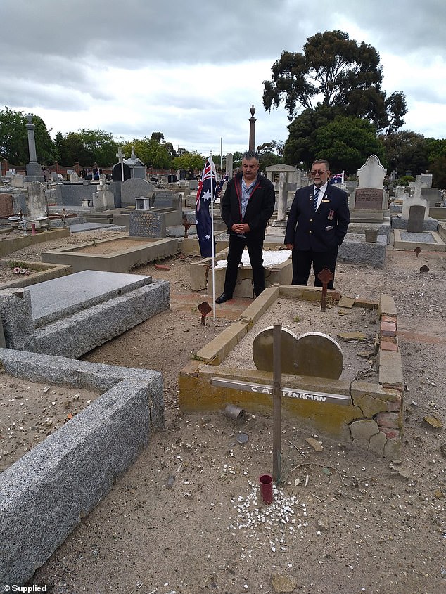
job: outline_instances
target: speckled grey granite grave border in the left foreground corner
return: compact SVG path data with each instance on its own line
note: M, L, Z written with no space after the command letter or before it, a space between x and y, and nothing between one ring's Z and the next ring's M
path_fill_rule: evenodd
M9 375L103 392L0 474L0 581L23 584L165 427L158 371L0 349Z

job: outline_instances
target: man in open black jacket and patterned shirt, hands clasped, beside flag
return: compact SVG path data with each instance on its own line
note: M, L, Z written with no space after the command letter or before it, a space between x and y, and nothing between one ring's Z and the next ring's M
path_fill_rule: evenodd
M274 186L269 179L259 175L259 156L253 150L243 154L241 167L241 173L227 183L222 198L222 219L228 228L229 250L224 292L215 303L232 299L245 246L253 269L255 295L258 297L265 289L263 240L274 212Z

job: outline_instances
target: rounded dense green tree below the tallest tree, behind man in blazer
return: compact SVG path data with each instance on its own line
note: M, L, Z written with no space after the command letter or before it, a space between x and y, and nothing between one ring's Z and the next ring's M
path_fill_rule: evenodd
M338 116L316 132L317 159L330 162L331 171L356 174L370 155L376 155L386 167L386 155L376 128L359 117Z

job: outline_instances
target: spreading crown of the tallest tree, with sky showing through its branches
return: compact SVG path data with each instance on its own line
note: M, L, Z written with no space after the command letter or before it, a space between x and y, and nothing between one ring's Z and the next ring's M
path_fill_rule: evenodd
M309 37L303 53L283 51L264 81L263 105L270 111L284 101L289 119L317 105L340 108L343 115L363 117L379 131L394 131L407 113L403 93L390 97L381 89L382 68L373 46L357 44L342 31Z

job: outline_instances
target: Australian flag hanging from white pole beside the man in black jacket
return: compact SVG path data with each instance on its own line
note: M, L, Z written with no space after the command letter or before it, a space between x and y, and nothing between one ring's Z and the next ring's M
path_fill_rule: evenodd
M203 174L198 183L198 192L195 202L195 223L200 245L200 254L203 258L212 257L212 219L209 212L210 202L215 199L217 190L217 171L212 157L205 162ZM215 247L215 245L214 245ZM215 249L214 249L215 253Z

